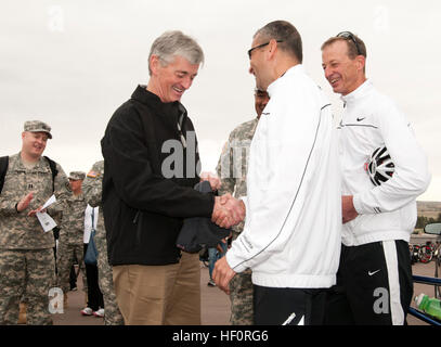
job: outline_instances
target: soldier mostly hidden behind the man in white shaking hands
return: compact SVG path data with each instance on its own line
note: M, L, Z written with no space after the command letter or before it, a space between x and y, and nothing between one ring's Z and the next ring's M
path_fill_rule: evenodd
M241 124L229 137L222 150L217 166L221 178L219 194L231 193L239 198L247 194L246 174L248 166L249 146L256 131L260 115L269 101L265 91L255 91L255 108L257 117ZM233 242L244 229L244 221L233 227ZM252 282L251 270L237 273L230 282L230 300L232 325L251 325L252 320Z

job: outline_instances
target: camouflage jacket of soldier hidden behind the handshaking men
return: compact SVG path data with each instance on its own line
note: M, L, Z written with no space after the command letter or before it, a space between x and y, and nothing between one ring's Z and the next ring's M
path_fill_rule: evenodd
M229 137L216 168L221 178L219 194L232 194L238 198L247 194L247 169L249 147L259 119L246 121L237 126ZM233 240L244 230L244 222L233 227Z

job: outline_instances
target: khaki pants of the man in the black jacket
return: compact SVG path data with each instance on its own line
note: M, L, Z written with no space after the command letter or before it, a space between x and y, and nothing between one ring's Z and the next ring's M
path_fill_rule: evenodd
M127 325L200 325L199 255L179 264L114 266L116 298Z

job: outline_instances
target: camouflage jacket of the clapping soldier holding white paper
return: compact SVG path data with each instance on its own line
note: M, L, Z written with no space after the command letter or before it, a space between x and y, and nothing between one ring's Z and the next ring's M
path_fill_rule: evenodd
M37 165L27 169L20 153L10 156L3 190L0 194L0 248L1 249L44 249L55 246L52 232L44 232L37 217L27 214L43 205L52 194L57 202L48 208L55 217L63 209L63 201L69 195L68 181L62 167L56 164L59 174L52 190L52 171L49 163L41 157ZM28 208L17 213L15 205L29 192L34 198ZM56 220L56 217L54 218Z

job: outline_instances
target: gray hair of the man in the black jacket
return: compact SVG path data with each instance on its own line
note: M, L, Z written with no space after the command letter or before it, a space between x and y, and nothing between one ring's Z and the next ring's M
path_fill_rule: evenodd
M204 64L204 52L200 46L179 30L166 31L159 36L152 44L148 62L152 55L157 55L163 66L170 64L177 55L185 57L192 65ZM148 73L152 75L150 65Z

